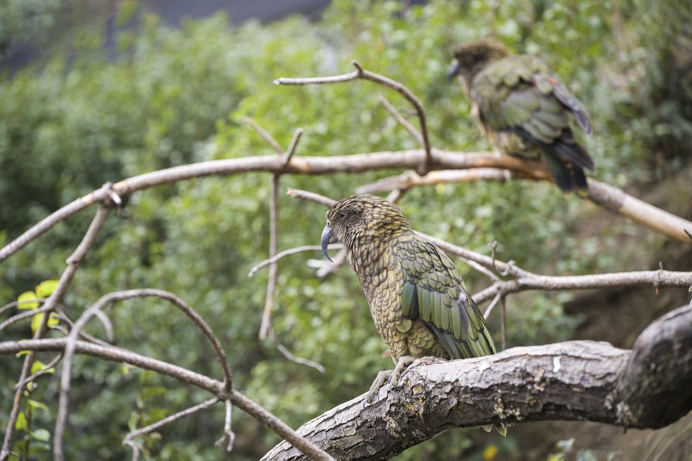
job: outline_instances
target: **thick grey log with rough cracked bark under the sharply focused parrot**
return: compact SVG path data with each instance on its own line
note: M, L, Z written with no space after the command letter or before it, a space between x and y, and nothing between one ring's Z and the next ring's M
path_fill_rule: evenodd
M692 409L692 305L653 322L631 351L571 341L414 363L398 387L387 392L385 386L367 407L364 397L298 432L338 460L364 460L387 459L449 428L503 421L664 427ZM285 441L263 457L305 459Z

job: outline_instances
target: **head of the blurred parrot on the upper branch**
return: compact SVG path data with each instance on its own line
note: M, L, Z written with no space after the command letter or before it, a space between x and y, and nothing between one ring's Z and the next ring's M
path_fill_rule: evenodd
M468 88L473 78L485 69L485 66L510 54L512 53L507 47L492 38L462 43L454 51L448 76L459 76L463 85Z

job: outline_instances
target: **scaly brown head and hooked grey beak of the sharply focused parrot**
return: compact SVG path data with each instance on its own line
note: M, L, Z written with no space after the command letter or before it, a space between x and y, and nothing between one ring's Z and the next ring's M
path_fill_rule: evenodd
M347 251L354 250L360 238L378 240L410 228L398 206L371 194L352 195L336 202L327 211L327 225L322 231L322 252L329 243L341 242Z

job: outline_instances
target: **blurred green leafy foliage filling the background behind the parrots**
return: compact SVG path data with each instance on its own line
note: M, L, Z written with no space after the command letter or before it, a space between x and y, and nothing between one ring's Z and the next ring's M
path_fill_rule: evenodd
M4 8L20 4L11 1ZM52 18L52 5L42 4L45 21ZM63 36L62 51L0 81L0 244L106 181L194 161L274 153L243 117L255 119L282 146L302 127L298 155L416 148L377 102L382 93L408 113L393 91L365 81L272 84L279 76L345 73L352 70L351 59L401 81L422 100L434 146L485 150L488 142L469 115L461 88L446 81L445 69L458 42L488 34L517 52L541 54L589 107L595 135L584 142L599 166L596 177L619 186L664 177L668 168L689 161L684 146L692 134L690 54L684 52L690 49L690 21L678 8L689 13L688 5L672 0L430 1L410 8L397 1L337 0L316 23L294 16L233 26L217 14L175 29L133 2L122 2L115 59L103 50L93 25L80 25ZM25 23L35 21L28 10L11 11L19 11ZM30 38L16 35L0 17L0 41ZM282 190L299 187L338 199L394 173L285 176L280 184ZM109 218L64 305L76 318L109 291L173 291L226 344L234 385L296 427L367 390L391 359L383 356L385 346L354 275L344 268L317 279L305 264L321 258L317 252L279 262L273 325L279 341L294 354L323 363L326 373L289 362L270 342L257 339L267 275L264 270L248 279L247 273L267 255L269 182L260 173L208 177L128 197L122 212ZM400 205L415 228L485 253L497 240L500 258L527 269L551 274L626 269L617 265L622 229L575 235L585 207L547 183L425 187L408 192ZM281 194L279 248L316 244L324 212ZM1 264L0 299L16 299L38 282L57 278L92 213L61 223ZM485 283L468 267L460 269L472 292ZM565 293L510 298L509 346L569 337L576 320L563 316L560 306L567 298ZM170 306L131 300L109 315L117 344L220 375L202 335ZM496 318L491 324L499 332ZM89 332L102 335L103 329L94 323ZM9 329L3 339L29 335L25 325ZM21 359L0 356L0 368L4 427ZM47 403L50 412L35 412L34 423L51 428L57 380L41 378L37 384L33 398ZM158 392L163 387L166 392ZM67 457L122 459L127 450L120 441L129 429L206 397L168 378L81 357L74 370ZM217 459L221 454L213 442L222 421L219 406L166 426L142 441L144 455ZM233 424L238 434L233 459L256 459L277 442L241 412ZM511 431L510 438L490 442L477 435L473 429L449 431L399 459L517 455ZM484 452L484 443L494 448Z

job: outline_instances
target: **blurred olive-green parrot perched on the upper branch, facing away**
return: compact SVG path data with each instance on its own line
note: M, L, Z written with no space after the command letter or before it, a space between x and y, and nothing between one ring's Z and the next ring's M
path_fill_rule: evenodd
M491 39L466 42L454 52L449 76L459 76L473 113L500 152L543 158L565 192L587 189L584 169L595 171L594 160L577 144L570 119L591 134L589 116L542 59L511 54Z

